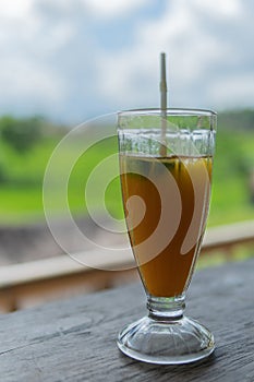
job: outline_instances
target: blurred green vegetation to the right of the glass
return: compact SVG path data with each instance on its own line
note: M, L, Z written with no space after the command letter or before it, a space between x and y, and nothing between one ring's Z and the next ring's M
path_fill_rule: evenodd
M244 111L219 115L209 225L254 218L250 188L254 170L254 120L250 116L254 118L254 112L247 116L244 118Z

